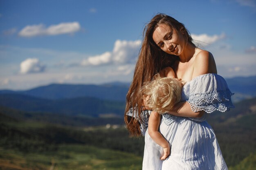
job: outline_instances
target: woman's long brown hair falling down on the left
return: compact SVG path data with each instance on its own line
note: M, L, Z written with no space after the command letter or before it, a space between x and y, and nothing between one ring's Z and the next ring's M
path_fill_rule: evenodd
M166 66L172 66L176 60L179 60L178 56L165 53L155 44L153 32L159 24L166 24L170 28L180 31L184 35L186 44L192 43L191 35L186 30L184 24L166 14L159 13L146 24L143 32L144 39L135 66L132 83L126 95L124 121L128 130L134 136L141 135L139 127L141 123L144 123L144 120L141 118L141 114L138 114L135 118L135 116L128 116L127 112L130 108L133 108L133 115L141 113L142 95L139 89L143 86L144 82L152 80L153 76L159 73L161 69Z

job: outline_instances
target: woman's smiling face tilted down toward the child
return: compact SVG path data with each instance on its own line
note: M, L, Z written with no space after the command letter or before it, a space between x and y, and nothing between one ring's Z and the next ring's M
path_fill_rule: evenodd
M185 39L182 33L171 29L166 24L159 24L153 32L153 40L160 49L172 55L180 55L185 45Z

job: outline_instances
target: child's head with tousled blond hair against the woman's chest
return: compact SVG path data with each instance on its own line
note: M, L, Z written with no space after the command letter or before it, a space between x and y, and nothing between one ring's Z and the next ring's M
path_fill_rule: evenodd
M173 109L173 106L180 102L182 84L180 81L169 77L157 77L141 87L141 94L145 98L148 108L158 112L166 113Z

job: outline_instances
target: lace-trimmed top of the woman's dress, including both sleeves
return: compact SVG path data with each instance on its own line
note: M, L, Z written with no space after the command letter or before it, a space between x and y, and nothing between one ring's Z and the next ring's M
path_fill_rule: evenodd
M215 110L221 112L229 111L234 108L231 102L231 93L223 77L215 73L209 73L195 77L182 87L181 102L188 102L194 112L204 110L206 113L212 113ZM132 109L127 113L132 116ZM137 113L136 113L137 114ZM136 115L135 114L135 115ZM148 117L150 111L145 110L141 116L145 120L141 123L141 132L144 134L148 126ZM165 113L162 115L162 121L166 125L173 122L182 124L184 121L191 119L193 121L204 121L206 114L200 118L179 117Z

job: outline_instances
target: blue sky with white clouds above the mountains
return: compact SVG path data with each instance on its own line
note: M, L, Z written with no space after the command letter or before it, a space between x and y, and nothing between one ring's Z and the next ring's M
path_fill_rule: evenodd
M0 89L130 82L156 13L184 23L223 77L256 75L255 0L0 0Z

